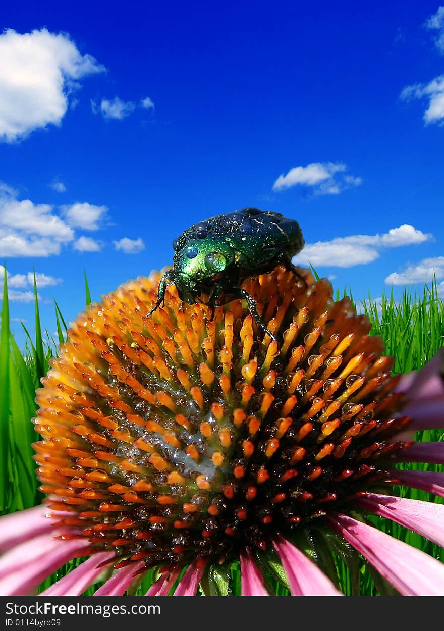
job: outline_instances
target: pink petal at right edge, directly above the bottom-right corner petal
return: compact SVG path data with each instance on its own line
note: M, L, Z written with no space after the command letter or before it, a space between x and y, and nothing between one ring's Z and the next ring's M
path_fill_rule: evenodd
M444 504L378 493L363 495L356 503L375 515L387 517L414 533L422 534L438 546L444 546Z

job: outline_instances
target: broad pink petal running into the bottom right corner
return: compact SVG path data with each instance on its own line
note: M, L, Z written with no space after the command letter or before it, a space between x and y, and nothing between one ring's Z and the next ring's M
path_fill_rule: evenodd
M444 594L444 563L352 517L332 514L326 519L400 594Z

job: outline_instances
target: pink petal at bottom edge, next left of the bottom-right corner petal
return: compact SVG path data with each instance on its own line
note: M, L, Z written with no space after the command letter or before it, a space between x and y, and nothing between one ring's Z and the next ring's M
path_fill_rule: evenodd
M273 541L293 596L342 596L324 572L283 537Z

